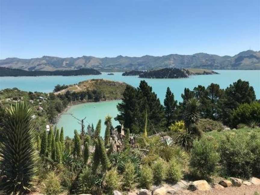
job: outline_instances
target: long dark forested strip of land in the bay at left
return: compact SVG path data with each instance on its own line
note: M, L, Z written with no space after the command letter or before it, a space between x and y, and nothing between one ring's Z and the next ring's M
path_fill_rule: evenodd
M0 76L79 76L100 74L101 72L91 68L82 68L79 70L27 71L22 69L0 67Z

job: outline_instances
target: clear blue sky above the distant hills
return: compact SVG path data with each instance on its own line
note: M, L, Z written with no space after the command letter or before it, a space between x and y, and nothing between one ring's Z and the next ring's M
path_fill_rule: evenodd
M260 50L260 0L0 0L0 58Z

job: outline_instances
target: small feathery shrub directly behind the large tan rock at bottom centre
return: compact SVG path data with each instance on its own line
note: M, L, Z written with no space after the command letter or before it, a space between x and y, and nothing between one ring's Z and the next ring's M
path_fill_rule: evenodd
M166 162L162 159L159 159L156 162L154 162L152 169L154 184L161 184L166 176Z

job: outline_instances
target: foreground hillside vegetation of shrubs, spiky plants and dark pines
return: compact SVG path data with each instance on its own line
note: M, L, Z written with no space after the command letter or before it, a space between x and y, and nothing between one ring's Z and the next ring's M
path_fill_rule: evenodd
M78 85L92 86L92 82ZM104 81L100 82L102 86ZM1 91L1 100L17 95L17 102L11 101L14 105L9 106L9 101L1 105L1 192L22 194L37 189L45 194L113 195L120 193L115 190L128 193L145 188L150 193L153 185L167 191L164 184L178 185L181 179L205 179L214 186L226 178L245 180L260 173L260 103L246 81L238 80L226 89L213 83L185 88L182 102L167 88L163 105L145 81L138 88L126 85L117 107L116 120L121 125L114 128L112 117L107 116L104 137L101 120L96 128L89 125L80 133L75 130L74 138L63 137L66 127L51 127L48 132L35 128L35 107L27 103L29 98L36 101L36 95L41 95L45 100L41 103L49 107L55 101L63 104L65 99L59 96L65 94ZM253 126L250 118L255 121ZM23 147L16 147L20 143ZM29 159L29 164L21 159ZM28 178L20 177L26 166L31 169ZM193 183L187 183L186 190L193 189Z

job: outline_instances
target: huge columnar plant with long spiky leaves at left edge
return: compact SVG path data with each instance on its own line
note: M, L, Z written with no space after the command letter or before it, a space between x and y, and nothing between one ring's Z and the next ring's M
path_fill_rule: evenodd
M0 147L3 194L26 194L34 187L38 157L32 115L33 110L24 102L5 109L5 139Z

